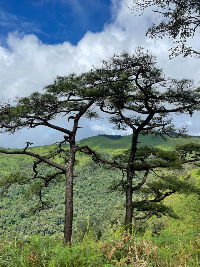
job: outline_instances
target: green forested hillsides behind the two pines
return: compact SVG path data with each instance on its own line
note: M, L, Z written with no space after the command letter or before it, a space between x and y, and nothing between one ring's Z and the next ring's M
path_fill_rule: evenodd
M152 139L151 135L139 136L139 146L156 146L165 150L172 150L177 144L188 142L200 143L198 137L170 138L167 141L162 137ZM78 145L88 145L92 149L100 152L104 158L111 159L114 154L128 149L132 136L123 136L113 139L113 137L98 135L85 138L78 141ZM28 148L34 153L47 154L56 145L38 146ZM67 146L67 145L66 145ZM58 162L61 159L58 158ZM0 174L1 177L8 176L9 173L31 177L32 160L25 155L0 155ZM187 172L193 177L193 181L200 184L199 169L192 170L186 167ZM41 175L48 173L49 167L43 164L38 168ZM183 175L185 171L183 170ZM182 175L180 172L180 175ZM124 200L122 192L114 191L109 193L109 187L113 180L122 177L121 172L116 169L104 169L98 167L92 162L90 157L81 153L77 156L74 177L74 214L73 214L73 237L83 237L86 230L87 217L90 220L90 226L98 238L105 238L109 230L124 221ZM137 183L137 181L135 181ZM27 198L27 190L32 190L32 198ZM51 188L45 189L45 198L52 201L51 209L32 214L31 207L38 200L35 195L34 186L28 188L28 185L12 185L4 198L0 199L0 238L11 240L13 238L29 240L30 235L46 234L60 237L62 239L64 227L64 191L65 184L59 182ZM174 208L175 213L180 219L172 219L162 216L157 218L153 216L143 220L138 224L141 231L147 234L157 233L159 230L167 228L174 229L176 232L187 230L189 228L198 229L200 227L200 200L197 195L172 195L164 200L165 204Z

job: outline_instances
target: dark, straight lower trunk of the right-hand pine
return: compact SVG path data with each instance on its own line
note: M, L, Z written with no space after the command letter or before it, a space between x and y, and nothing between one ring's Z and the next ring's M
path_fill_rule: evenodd
M125 226L127 229L132 228L132 218L133 218L133 176L134 168L133 161L135 158L135 153L137 151L138 134L133 132L131 152L127 167L127 180L126 180L126 216L125 216Z

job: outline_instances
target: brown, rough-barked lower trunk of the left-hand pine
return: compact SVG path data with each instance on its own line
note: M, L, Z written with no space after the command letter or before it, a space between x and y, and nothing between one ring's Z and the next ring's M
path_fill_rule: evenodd
M73 168L76 156L75 141L70 143L70 152L67 172L65 174L65 225L64 225L64 244L71 242L72 238L72 223L73 223Z

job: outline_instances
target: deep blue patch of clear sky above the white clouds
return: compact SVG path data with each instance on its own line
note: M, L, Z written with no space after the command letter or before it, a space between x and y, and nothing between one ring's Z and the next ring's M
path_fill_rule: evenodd
M8 32L34 33L47 44L72 44L87 31L102 31L111 21L109 0L35 0L0 2L1 42Z

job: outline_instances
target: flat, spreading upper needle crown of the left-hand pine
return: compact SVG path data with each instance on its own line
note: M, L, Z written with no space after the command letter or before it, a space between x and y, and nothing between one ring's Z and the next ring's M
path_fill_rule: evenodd
M57 116L68 116L75 119L79 112L82 115L98 118L93 111L94 100L84 96L90 88L84 88L82 78L71 74L66 77L57 77L52 85L44 88L45 93L34 92L29 97L1 101L0 128L3 132L17 133L23 127L34 128L38 125L48 126L52 129L70 134L71 131L51 124L49 121ZM89 101L89 102L88 102ZM87 109L86 109L87 107ZM69 116L71 115L71 116Z

